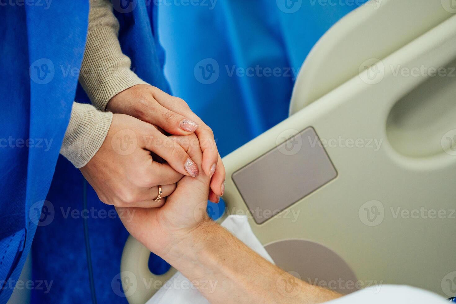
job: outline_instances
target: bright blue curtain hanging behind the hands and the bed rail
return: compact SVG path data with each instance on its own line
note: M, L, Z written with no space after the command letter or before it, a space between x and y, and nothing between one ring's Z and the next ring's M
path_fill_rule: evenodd
M295 77L311 48L366 1L161 0L165 75L227 155L288 116Z

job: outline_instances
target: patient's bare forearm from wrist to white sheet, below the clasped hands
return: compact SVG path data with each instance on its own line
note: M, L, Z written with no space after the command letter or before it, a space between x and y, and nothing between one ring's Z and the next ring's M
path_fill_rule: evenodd
M163 258L211 303L322 303L340 297L269 263L215 223L194 230Z

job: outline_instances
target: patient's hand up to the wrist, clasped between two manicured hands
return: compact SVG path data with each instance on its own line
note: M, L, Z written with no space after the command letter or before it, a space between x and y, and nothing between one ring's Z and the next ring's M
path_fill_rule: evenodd
M202 151L195 134L171 136L180 144L198 167ZM196 143L196 144L195 144ZM206 212L209 177L200 174L197 178L184 176L177 182L176 190L167 197L160 208L130 208L134 220L123 220L125 228L152 252L165 256L176 243L189 237L195 229L215 223ZM116 208L118 211L126 208Z

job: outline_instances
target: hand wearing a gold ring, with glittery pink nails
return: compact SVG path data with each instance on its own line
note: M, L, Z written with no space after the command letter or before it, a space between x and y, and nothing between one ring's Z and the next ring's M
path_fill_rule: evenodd
M167 163L155 161L151 152ZM165 198L154 201L158 185L166 197L183 175L194 179L199 174L179 144L153 125L124 114L113 114L106 139L80 170L104 203L137 207L163 205Z

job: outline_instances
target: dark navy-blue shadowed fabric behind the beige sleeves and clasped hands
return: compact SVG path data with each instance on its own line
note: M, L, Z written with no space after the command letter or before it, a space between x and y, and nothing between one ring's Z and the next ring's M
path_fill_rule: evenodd
M132 69L146 82L170 93L163 74L164 52L154 36L153 5L143 1L113 0L119 20L119 41L130 57ZM119 6L119 3L125 6ZM127 5L128 4L128 5ZM78 86L76 101L89 103ZM98 200L89 186L88 208L83 209L83 176L62 156L47 195L52 221L37 229L32 249L33 280L52 282L46 289L32 290L33 303L90 302L89 278L83 235L83 217L88 217L93 276L99 303L125 303L119 279L120 258L128 232L114 208ZM158 268L166 268L166 264Z

